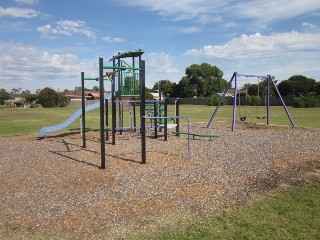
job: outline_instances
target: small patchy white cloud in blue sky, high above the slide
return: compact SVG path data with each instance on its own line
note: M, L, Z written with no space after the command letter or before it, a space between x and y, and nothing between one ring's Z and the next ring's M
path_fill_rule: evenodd
M42 37L54 38L55 35L72 36L74 33L84 34L92 40L96 39L94 31L86 26L84 21L73 21L73 20L60 20L55 26L46 24L37 28L38 32L41 33Z

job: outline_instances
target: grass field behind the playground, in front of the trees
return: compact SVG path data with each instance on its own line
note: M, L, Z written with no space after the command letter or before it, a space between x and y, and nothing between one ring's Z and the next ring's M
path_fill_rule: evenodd
M36 134L40 128L58 124L67 119L70 114L78 108L0 108L0 135L21 135L21 134ZM266 119L262 118L265 115L265 108L260 107L257 114L256 107L241 107L237 113L246 115L246 122L266 124ZM191 123L208 122L214 107L204 105L181 105L180 115L187 116ZM320 108L291 108L289 107L291 116L295 124L299 127L320 128ZM139 114L139 111L137 112ZM174 106L169 105L168 115L174 115ZM129 108L125 107L124 115L126 126L130 124ZM99 110L94 110L86 115L86 127L90 129L99 128ZM232 120L232 106L220 107L214 121L230 121ZM111 119L109 120L111 122ZM182 120L183 121L183 120ZM182 122L183 123L183 122ZM288 125L291 123L283 109L283 107L270 108L270 124ZM69 126L66 131L79 129L80 121L75 121Z

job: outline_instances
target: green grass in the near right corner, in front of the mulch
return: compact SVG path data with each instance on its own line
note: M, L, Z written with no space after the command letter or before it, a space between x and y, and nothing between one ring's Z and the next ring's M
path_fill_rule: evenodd
M141 233L137 239L320 239L320 172L302 187L277 189L270 197L186 226Z

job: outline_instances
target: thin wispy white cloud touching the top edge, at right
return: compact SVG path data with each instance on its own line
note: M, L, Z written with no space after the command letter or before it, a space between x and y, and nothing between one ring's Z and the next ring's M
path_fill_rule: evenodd
M270 23L320 9L318 0L123 0L121 3L158 12L173 21L191 20L200 24L243 19L255 24Z

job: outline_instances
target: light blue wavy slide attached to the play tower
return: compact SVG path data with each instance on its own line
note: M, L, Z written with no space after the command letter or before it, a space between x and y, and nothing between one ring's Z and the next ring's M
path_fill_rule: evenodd
M104 96L105 99L110 100L111 99L111 93L108 93L107 95ZM96 102L94 104L91 104L89 106L85 107L85 111L86 112L90 112L94 109L97 109L100 107L100 101ZM53 132L58 132L66 127L68 127L69 125L71 125L71 123L73 123L75 120L77 120L80 116L82 115L82 109L78 109L77 111L75 111L68 119L66 119L65 121L63 121L62 123L59 123L57 125L54 126L49 126L49 127L43 127L40 129L39 131L39 138L44 138L48 133L53 133Z

